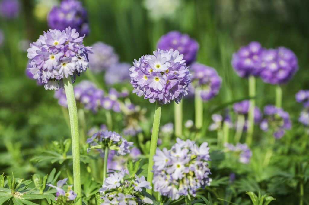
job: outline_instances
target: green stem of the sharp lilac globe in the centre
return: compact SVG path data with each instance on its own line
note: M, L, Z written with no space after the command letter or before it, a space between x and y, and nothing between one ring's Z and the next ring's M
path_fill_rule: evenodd
M162 110L162 105L159 102L156 102L154 123L152 125L152 134L151 134L150 152L149 152L149 163L148 163L148 173L147 173L147 182L150 183L150 186L152 186L152 178L153 178L153 175L154 175L153 172L152 172L152 167L154 165L153 156L155 155L155 151L156 151L157 144L158 144L161 110ZM151 195L152 189L147 189L147 192Z

